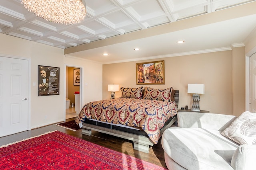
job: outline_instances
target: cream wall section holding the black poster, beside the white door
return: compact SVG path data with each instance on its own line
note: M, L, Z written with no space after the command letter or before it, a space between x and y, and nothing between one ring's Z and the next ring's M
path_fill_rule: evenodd
M30 102L30 123L31 127L40 127L56 121L63 120L65 97L63 85L63 49L42 45L32 41L0 34L0 53L13 57L24 57L30 60L31 64L31 96L28 96ZM38 96L38 65L54 66L60 68L60 95ZM36 86L32 86L33 82ZM56 107L58 106L58 107ZM63 106L63 107L62 107ZM47 119L44 119L44 117Z

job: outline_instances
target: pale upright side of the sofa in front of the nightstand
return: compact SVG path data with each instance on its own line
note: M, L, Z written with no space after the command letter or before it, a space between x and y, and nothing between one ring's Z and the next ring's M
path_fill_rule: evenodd
M182 128L204 128L223 131L234 120L234 115L216 113L179 112L178 126Z

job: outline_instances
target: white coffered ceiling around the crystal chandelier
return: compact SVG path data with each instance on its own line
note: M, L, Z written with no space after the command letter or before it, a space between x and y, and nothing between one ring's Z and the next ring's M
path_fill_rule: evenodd
M255 0L86 0L85 20L62 25L36 17L21 0L0 0L0 33L66 49L251 2Z

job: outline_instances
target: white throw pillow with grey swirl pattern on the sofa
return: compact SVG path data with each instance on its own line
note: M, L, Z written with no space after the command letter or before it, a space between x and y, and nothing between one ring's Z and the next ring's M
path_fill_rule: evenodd
M240 145L256 145L256 113L245 111L221 134Z

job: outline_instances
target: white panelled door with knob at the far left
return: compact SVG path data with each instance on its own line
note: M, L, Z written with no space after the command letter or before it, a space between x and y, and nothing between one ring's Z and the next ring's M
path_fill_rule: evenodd
M28 61L0 57L0 137L28 130Z

